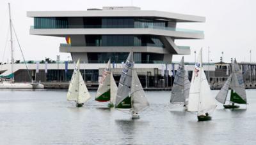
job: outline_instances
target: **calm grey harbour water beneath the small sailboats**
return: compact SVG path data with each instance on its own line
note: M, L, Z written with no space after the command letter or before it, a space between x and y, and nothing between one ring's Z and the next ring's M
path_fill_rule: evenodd
M256 90L246 110L219 104L206 122L170 105L170 92L146 92L150 107L131 120L93 99L77 108L66 91L0 90L0 144L256 144Z

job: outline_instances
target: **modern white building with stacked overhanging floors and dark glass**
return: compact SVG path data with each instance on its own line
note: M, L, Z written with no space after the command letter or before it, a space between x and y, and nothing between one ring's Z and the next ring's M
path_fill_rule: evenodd
M203 31L176 27L182 22L205 22L204 17L138 7L28 11L27 15L34 18L30 34L63 37L67 43L60 44L60 52L71 53L72 60L81 59L86 69L97 74L109 58L121 64L132 50L139 76L155 77L153 84L159 81L161 64L170 64L172 55L190 54L189 46L177 46L175 39L204 39Z

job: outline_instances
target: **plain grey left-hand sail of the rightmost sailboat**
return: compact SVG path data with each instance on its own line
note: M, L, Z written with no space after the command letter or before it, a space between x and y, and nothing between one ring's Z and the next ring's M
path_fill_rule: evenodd
M215 99L218 100L218 102L220 102L222 104L225 104L225 102L226 102L227 95L228 95L228 88L229 88L230 83L231 83L231 78L232 78L232 74L228 77L227 81L222 86L220 92L215 97Z

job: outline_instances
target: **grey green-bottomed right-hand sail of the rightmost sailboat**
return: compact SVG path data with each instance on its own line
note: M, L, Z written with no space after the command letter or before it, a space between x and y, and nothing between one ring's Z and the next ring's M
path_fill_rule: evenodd
M245 93L245 85L243 81L243 74L239 69L239 66L235 60L234 67L232 71L232 81L231 81L231 95L230 101L239 103L239 104L246 104L246 93Z

